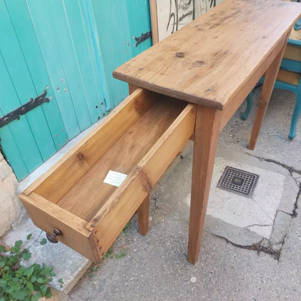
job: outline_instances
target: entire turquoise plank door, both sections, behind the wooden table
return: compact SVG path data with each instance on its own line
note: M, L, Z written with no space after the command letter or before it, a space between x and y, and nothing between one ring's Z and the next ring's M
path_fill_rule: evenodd
M150 29L140 0L0 0L0 116L50 99L0 128L18 180L128 95L112 72L151 46L133 39Z

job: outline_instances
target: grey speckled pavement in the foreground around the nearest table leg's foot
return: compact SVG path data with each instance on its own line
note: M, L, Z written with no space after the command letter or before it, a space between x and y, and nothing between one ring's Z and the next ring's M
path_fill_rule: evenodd
M301 299L299 216L293 219L279 262L205 232L193 266L186 259L187 223L160 210L153 215L147 237L132 222L128 236L114 246L127 244L126 257L107 259L95 275L85 275L71 291L71 300Z

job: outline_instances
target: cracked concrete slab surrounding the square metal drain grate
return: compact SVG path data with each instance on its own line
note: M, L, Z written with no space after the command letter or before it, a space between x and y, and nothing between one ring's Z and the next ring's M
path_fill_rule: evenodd
M259 175L252 197L217 187L226 166ZM192 147L166 180L164 192L156 201L157 207L186 221L189 221L191 171ZM205 230L237 245L251 246L264 240L265 246L273 249L277 245L275 250L279 250L299 189L295 178L283 166L218 146ZM281 222L277 222L280 219L277 216L281 216ZM272 240L268 242L270 237Z

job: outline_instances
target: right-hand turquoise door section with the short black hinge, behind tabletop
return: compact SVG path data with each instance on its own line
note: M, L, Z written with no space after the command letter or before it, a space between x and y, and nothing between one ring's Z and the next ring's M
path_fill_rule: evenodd
M129 86L112 77L113 70L140 52L151 47L147 39L136 47L135 37L151 30L149 1L146 0L85 0L92 16L101 52L101 70L105 74L104 90L110 107L129 95Z

